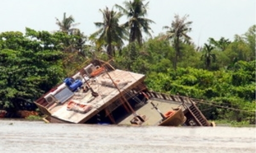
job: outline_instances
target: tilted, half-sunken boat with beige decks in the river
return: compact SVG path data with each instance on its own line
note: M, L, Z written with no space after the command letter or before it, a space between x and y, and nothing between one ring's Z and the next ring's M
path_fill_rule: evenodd
M149 91L144 80L144 74L93 60L38 98L35 104L47 115L44 120L53 123L210 125L196 101ZM161 113L170 110L172 115Z

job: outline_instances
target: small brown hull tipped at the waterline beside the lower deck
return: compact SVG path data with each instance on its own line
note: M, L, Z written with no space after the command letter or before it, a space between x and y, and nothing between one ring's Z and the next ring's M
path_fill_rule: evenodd
M186 117L183 114L181 108L175 108L174 113L159 123L160 126L179 126L186 121Z

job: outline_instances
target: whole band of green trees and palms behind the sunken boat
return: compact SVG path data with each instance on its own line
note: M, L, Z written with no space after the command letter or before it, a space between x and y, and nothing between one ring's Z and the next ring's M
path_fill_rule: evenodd
M189 37L193 22L175 15L166 32L143 39L154 23L145 18L148 5L134 0L100 10L103 20L91 36L74 28L66 13L56 19L60 30L54 33L1 33L0 109L37 99L88 59L113 58L114 67L146 74L151 90L205 99L199 107L207 119L255 124L255 25L233 41L209 38L201 48ZM123 16L127 21L119 23Z

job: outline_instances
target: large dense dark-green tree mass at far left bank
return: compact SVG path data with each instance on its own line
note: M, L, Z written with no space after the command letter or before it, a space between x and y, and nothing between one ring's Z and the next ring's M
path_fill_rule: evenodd
M34 37L36 36L36 37ZM35 100L60 82L64 71L59 44L49 32L26 29L0 34L0 106Z

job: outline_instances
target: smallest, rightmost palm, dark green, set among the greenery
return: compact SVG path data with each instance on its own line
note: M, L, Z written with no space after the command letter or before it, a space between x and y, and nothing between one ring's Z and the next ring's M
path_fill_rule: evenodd
M204 54L201 56L201 60L204 60L206 69L209 69L210 64L216 61L216 55L211 53L213 49L214 47L211 46L210 44L209 45L206 43L204 44L204 48L203 48Z

